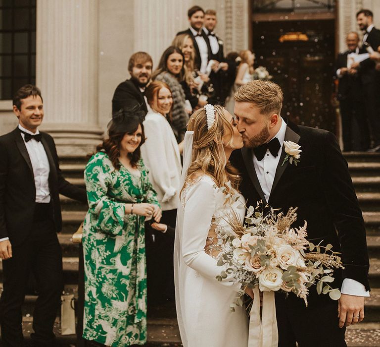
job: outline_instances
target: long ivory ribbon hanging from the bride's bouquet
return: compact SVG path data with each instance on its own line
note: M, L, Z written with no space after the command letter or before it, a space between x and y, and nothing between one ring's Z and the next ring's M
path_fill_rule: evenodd
M277 330L275 292L263 292L262 319L260 319L260 292L253 289L254 299L249 318L248 347L277 347L279 332Z

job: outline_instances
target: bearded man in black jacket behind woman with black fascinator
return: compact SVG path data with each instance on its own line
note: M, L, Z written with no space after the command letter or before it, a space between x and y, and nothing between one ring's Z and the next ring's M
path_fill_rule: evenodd
M144 93L152 75L153 61L145 52L134 53L128 62L131 78L121 82L113 94L112 114L120 109L148 112Z

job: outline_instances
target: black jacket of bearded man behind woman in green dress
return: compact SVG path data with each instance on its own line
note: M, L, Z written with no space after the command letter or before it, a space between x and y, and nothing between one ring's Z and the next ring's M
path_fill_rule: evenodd
M131 78L121 82L113 94L112 98L112 114L120 109L130 110L136 107L138 110L148 112L145 104L144 95L139 89L136 81Z

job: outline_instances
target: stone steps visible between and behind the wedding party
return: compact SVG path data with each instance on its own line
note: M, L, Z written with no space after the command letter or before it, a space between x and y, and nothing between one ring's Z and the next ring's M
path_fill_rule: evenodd
M371 297L366 300L366 318L363 323L347 329L346 341L349 347L380 347L380 154L346 153L349 170L355 185L367 229L367 243L370 253ZM61 170L73 184L84 186L82 157L61 157ZM78 266L80 247L72 243L71 235L83 221L87 207L79 202L61 196L63 230L59 241L63 250L65 292L78 294ZM1 280L0 263L0 280ZM23 307L23 328L25 338L32 331L32 314L35 295L27 295ZM76 346L75 335L60 335L59 318L55 334L62 347ZM149 307L148 347L182 346L174 304Z

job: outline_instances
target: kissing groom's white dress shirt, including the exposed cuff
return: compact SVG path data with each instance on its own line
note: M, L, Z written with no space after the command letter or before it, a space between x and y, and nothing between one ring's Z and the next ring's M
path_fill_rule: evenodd
M265 153L264 158L258 161L256 156L253 154L253 165L257 174L257 178L260 182L261 189L264 193L265 200L269 200L271 194L273 181L275 179L275 173L277 166L280 161L280 156L282 148L284 146L286 123L283 118L281 118L281 127L278 133L273 137L277 137L280 142L280 149L277 157L274 157L269 149ZM272 139L271 139L272 140ZM269 142L269 141L268 141ZM370 296L370 292L366 290L363 284L358 281L346 278L343 280L342 288L340 289L342 294L355 295L355 296Z

